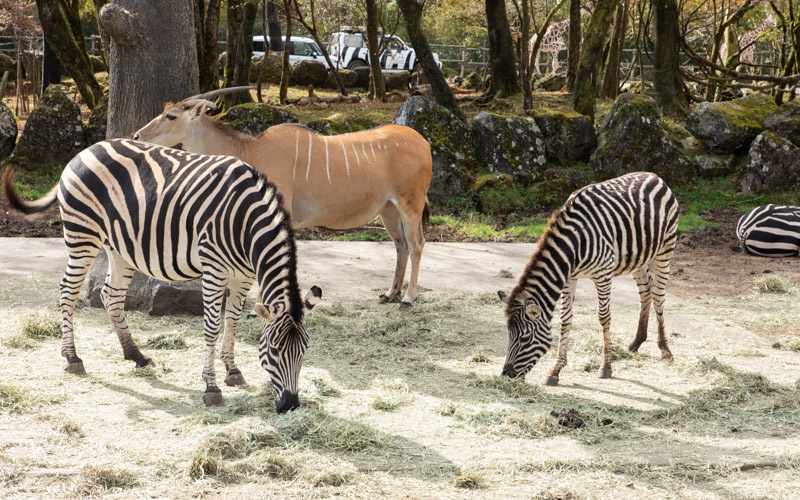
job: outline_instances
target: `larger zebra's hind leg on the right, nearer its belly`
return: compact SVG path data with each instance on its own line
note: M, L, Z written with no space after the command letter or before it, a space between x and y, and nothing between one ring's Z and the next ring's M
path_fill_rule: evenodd
M136 362L136 368L147 366L153 361L139 351L131 337L128 321L125 318L125 295L133 279L134 267L125 262L122 256L110 247L105 247L108 255L108 274L100 292L100 299L106 308L111 324L117 332L125 359Z

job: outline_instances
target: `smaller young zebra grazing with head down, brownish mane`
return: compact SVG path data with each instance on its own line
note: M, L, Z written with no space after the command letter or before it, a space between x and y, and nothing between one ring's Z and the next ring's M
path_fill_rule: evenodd
M628 346L636 351L647 338L650 304L658 318L661 359L672 360L664 330L664 288L675 250L678 203L657 175L636 172L570 195L550 219L547 231L522 274L506 295L508 354L503 375L524 377L550 349L550 321L561 295L561 335L558 359L545 379L558 384L567 364L567 343L572 304L579 278L591 278L597 288L597 314L603 328L603 364L600 378L611 377L611 278L632 274L639 288L641 312L636 338Z

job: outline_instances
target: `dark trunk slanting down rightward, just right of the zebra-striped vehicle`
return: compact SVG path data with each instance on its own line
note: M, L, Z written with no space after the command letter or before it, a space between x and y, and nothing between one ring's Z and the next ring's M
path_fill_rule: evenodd
M425 37L425 33L422 32L422 4L417 0L397 0L397 6L400 7L400 11L403 13L409 42L411 42L414 51L417 53L417 60L419 60L422 71L425 72L425 78L431 86L434 100L452 111L460 120L466 121L467 117L458 107L456 97L453 95L453 91L447 81L445 81L441 70L436 65L428 39Z

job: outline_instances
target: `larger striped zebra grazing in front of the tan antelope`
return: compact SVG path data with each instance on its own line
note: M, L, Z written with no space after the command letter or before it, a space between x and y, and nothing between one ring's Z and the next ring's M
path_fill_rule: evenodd
M69 261L61 280L65 371L85 373L75 352L73 312L81 285L101 248L108 274L101 292L125 359L151 363L131 337L125 294L134 270L164 281L202 277L203 379L206 405L221 405L214 350L225 300L221 359L228 385L244 383L233 356L244 299L258 281L264 318L259 359L274 385L279 412L299 406L297 377L308 344L304 312L321 296L312 288L301 300L289 216L265 177L230 156L204 156L152 144L115 139L78 154L44 198L28 202L13 190L11 169L3 187L12 207L40 212L56 199L64 223Z

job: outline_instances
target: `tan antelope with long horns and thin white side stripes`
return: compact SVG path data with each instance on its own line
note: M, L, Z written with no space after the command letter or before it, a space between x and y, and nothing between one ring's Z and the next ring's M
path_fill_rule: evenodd
M392 286L380 300L389 302L400 292L410 256L408 290L400 304L401 309L409 307L417 296L425 244L422 221L433 168L428 141L399 125L323 136L286 124L251 137L206 116L216 108L208 98L236 89L167 104L134 138L242 159L275 183L295 229L351 229L380 215L397 251Z

